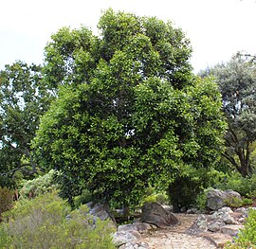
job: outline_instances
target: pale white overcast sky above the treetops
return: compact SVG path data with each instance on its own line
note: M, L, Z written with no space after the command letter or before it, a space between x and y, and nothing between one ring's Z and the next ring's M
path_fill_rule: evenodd
M173 21L192 42L195 71L239 50L256 54L255 0L1 0L0 69L16 60L42 63L52 33L81 25L96 32L108 8Z

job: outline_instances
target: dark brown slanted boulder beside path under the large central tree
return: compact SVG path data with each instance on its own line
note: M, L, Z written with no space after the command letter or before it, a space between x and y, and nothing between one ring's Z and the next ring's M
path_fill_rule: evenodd
M157 227L166 227L178 223L177 218L162 205L157 203L145 204L142 206L141 222L155 224Z

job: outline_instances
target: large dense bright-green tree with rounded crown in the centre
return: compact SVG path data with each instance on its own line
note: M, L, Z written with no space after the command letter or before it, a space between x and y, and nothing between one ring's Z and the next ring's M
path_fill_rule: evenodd
M135 205L150 184L214 165L221 98L212 80L192 76L192 48L171 23L109 9L99 28L100 37L62 28L47 44L46 78L60 91L33 146L70 200L87 187Z

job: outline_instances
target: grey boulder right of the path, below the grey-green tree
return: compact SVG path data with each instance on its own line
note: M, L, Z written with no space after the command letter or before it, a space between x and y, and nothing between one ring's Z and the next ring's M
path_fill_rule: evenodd
M231 198L241 199L241 195L233 190L212 189L207 194L207 206L211 210L218 210L226 205L226 201Z

